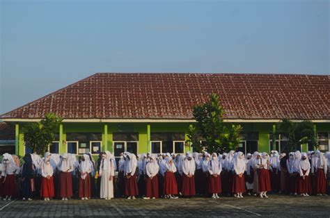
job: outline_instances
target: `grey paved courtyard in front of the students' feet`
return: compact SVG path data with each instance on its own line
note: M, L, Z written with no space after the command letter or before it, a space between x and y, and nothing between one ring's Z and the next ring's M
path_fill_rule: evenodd
M270 195L234 199L155 199L105 201L0 201L0 217L109 217L109 216L194 216L194 217L330 217L330 196L300 197Z

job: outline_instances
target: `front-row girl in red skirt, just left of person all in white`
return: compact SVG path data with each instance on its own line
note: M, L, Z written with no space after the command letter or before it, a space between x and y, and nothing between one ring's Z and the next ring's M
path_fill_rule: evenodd
M92 164L89 160L89 156L84 154L81 156L81 162L79 163L79 198L81 200L88 200L91 197L91 177Z

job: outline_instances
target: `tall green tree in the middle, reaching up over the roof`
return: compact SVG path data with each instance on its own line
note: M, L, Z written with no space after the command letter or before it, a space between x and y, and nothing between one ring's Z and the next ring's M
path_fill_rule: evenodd
M207 151L210 153L235 150L239 145L242 126L224 124L224 112L217 94L211 94L209 101L193 108L193 115L197 121L196 133L205 140ZM188 131L189 138L196 137L189 133L191 132Z

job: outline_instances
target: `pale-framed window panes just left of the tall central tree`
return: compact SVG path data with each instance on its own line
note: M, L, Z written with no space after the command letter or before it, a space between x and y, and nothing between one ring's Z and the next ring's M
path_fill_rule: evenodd
M184 141L151 142L151 153L184 153Z

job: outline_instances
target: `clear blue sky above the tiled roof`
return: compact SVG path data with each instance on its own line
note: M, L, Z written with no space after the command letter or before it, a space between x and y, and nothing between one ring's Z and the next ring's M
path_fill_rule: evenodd
M1 1L0 113L95 72L329 74L330 1Z

